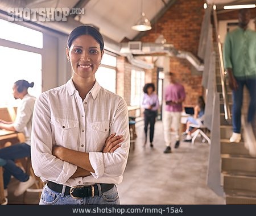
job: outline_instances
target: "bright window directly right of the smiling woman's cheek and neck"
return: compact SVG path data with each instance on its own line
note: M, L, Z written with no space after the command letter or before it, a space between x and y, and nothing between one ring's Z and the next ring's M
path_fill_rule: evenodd
M115 93L117 57L104 53L101 67L98 68L95 77L97 82L110 92Z

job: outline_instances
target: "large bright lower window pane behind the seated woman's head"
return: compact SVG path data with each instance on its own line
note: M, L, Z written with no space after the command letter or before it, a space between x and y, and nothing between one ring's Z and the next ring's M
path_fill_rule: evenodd
M38 97L42 93L42 56L38 53L0 46L0 106L17 103L13 97L13 84L17 80L35 82L28 93Z

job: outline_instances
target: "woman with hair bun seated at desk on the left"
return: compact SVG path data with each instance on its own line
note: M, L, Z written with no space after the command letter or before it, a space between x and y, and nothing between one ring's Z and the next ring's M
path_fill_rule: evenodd
M17 115L14 122L6 122L0 119L0 129L9 131L23 132L26 138L24 143L18 143L13 146L0 149L0 158L6 161L3 166L3 184L5 196L7 196L7 185L11 176L19 180L19 185L14 191L14 196L20 196L27 188L34 184L35 180L27 173L23 172L15 164L16 159L30 157L30 137L32 128L32 115L36 98L27 93L29 87L33 87L34 82L29 83L26 80L18 80L13 86L13 95L15 99L21 99L17 109Z

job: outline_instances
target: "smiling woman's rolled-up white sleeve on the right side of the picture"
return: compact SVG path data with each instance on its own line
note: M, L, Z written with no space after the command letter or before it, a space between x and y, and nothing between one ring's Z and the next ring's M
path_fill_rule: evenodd
M121 143L121 147L113 153L89 152L90 164L95 171L95 173L92 173L94 178L119 177L123 175L130 146L128 119L127 105L120 97L110 127L110 134L116 132L117 135L123 135L123 142Z

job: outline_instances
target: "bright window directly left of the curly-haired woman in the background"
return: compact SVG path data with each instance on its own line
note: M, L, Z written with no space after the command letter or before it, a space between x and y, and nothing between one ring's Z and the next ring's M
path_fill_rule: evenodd
M145 72L131 70L131 106L141 106L144 85Z

